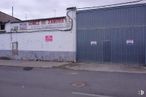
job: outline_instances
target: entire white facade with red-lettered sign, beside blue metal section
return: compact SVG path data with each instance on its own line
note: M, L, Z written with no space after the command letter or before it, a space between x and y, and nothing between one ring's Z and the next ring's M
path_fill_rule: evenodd
M0 58L76 61L76 9L66 17L7 23L0 34Z

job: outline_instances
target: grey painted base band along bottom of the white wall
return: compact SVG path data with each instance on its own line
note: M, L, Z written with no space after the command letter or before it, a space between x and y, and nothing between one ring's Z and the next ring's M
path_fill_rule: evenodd
M0 50L0 58L16 60L42 60L42 61L71 61L75 62L75 52L48 52L48 51L19 51L13 55L10 50Z

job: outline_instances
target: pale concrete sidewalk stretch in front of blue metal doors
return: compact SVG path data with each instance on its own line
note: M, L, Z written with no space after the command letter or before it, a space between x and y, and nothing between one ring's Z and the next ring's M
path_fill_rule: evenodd
M74 63L66 65L65 68L87 71L146 73L146 67L144 66L125 64Z

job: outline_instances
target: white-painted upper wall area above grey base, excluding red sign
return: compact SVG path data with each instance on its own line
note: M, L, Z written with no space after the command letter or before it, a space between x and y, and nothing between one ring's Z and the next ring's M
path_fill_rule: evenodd
M18 50L31 51L76 51L76 13L72 11L69 15L73 19L73 29L71 31L39 31L28 33L7 33L0 34L0 50L11 50L11 43L18 42ZM7 24L6 30L18 23ZM52 35L53 41L46 42L45 36Z

